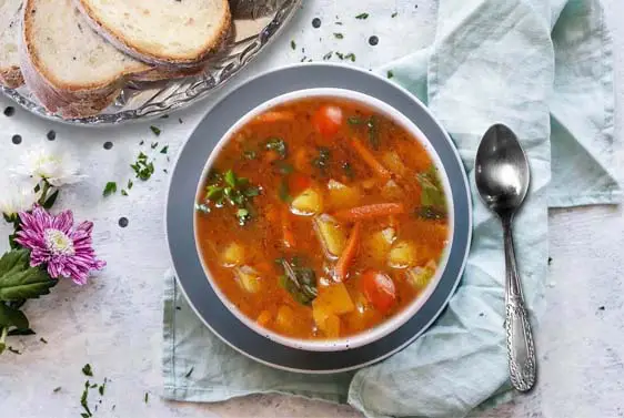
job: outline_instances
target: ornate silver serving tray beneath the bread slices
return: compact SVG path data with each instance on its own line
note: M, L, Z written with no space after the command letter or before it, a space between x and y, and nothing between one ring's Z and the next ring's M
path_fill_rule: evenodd
M130 82L115 102L95 116L63 119L48 112L27 86L0 91L48 120L77 125L121 124L162 116L204 99L250 63L290 21L302 0L230 0L232 35L193 77L161 82Z

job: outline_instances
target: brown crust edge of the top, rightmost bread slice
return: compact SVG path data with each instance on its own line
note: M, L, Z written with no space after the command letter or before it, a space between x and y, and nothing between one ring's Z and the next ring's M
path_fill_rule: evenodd
M101 19L98 18L93 9L88 3L88 0L73 0L74 4L87 18L91 28L100 35L105 38L120 51L150 64L154 65L174 65L174 67L197 67L199 63L205 61L211 54L217 52L222 45L223 40L228 38L232 24L232 16L230 12L230 3L228 0L221 0L225 13L219 22L219 30L217 37L209 39L203 45L202 50L193 57L165 57L158 51L150 51L141 45L132 44L129 39L125 39L122 33L114 28L108 28Z

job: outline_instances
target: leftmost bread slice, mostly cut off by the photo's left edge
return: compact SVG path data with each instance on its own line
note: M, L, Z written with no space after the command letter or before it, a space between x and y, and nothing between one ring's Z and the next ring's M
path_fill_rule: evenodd
M22 0L0 0L0 84L17 89L23 84L19 39Z

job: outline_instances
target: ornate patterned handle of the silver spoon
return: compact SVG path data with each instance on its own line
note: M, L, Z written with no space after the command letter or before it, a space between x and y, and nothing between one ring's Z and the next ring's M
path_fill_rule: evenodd
M530 390L535 383L535 347L529 315L524 306L520 275L515 264L512 220L503 220L505 239L505 330L512 385L520 391Z

